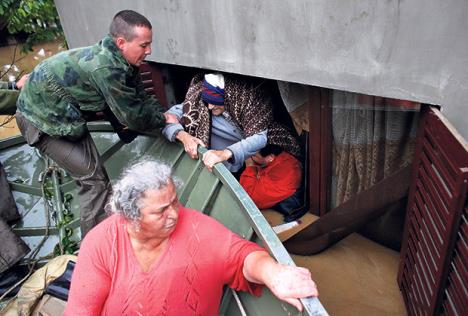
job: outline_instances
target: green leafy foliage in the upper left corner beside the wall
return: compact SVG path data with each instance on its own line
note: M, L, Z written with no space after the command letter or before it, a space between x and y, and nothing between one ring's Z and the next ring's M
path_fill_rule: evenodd
M1 22L10 34L28 35L23 52L36 43L64 38L53 0L0 0Z

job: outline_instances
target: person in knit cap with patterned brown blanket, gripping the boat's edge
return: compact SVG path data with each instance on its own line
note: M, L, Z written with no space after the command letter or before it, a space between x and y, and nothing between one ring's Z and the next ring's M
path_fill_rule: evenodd
M237 172L267 143L295 156L300 153L293 134L273 120L271 100L264 90L233 76L197 74L185 101L168 113L177 115L179 122L167 124L164 135L181 141L192 158L198 156L198 145L209 148L203 155L209 170L223 162Z

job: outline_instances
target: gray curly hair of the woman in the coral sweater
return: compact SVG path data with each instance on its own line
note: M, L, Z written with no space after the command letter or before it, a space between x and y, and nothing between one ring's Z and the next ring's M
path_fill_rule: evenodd
M141 198L147 190L160 190L172 180L176 187L182 182L172 175L172 169L165 162L145 158L128 167L113 187L113 193L106 205L106 212L123 215L127 220L140 220Z

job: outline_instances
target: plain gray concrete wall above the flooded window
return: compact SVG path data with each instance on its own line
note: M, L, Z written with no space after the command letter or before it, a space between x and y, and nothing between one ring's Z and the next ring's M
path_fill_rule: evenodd
M55 0L70 47L134 9L149 59L440 104L468 138L468 1Z

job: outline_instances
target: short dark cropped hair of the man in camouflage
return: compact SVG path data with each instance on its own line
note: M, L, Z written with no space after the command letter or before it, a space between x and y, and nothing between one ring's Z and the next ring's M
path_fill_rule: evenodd
M127 41L135 38L134 27L144 26L152 29L150 21L138 12L132 10L122 10L118 12L112 19L109 27L109 33L114 37L123 37Z

